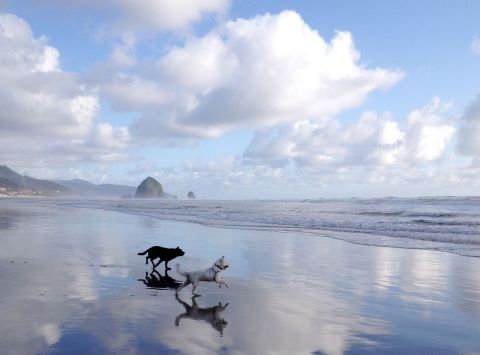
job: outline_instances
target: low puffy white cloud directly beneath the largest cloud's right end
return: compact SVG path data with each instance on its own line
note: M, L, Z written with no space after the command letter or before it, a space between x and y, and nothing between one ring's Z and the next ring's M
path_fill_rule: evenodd
M257 133L244 157L269 166L286 166L290 161L302 167L393 164L402 154L404 136L388 115L366 112L348 125L328 119Z

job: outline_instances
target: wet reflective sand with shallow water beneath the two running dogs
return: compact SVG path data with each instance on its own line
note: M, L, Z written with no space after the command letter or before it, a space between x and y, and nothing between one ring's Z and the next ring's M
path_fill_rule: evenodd
M137 252L225 255L192 299ZM36 353L480 352L480 259L0 200L0 349ZM228 304L228 305L227 305Z

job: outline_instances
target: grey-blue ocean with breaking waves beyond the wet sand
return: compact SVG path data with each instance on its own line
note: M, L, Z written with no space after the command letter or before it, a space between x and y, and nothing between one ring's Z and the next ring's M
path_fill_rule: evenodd
M293 231L362 245L480 256L480 197L52 200L48 203L222 228Z

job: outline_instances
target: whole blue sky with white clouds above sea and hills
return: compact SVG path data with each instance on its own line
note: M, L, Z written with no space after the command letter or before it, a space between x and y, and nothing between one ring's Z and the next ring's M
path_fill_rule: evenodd
M180 198L478 195L480 2L0 0L0 164Z

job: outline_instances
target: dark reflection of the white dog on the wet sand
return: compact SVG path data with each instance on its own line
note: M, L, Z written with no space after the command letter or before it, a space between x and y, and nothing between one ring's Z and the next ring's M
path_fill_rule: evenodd
M192 305L190 306L187 302L182 301L178 296L175 296L177 301L185 307L185 313L181 313L175 318L175 325L178 327L180 325L180 319L182 318L190 318L195 320L203 320L207 323L210 323L213 328L215 328L220 335L223 335L223 328L225 328L228 322L220 317L220 313L222 313L225 308L227 308L228 303L223 306L222 303L218 302L217 306L214 307L207 307L207 308L200 308L198 307L195 298L199 296L192 297Z

